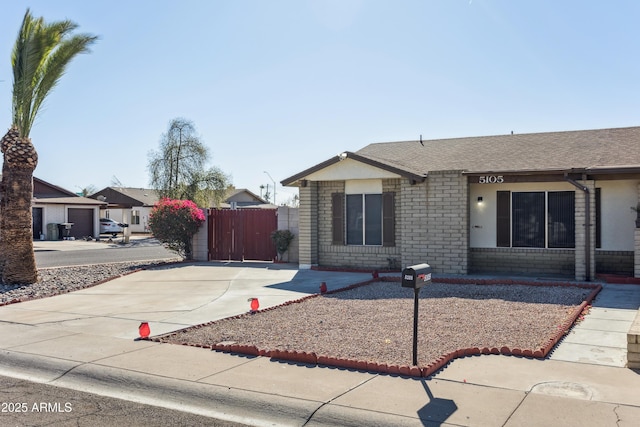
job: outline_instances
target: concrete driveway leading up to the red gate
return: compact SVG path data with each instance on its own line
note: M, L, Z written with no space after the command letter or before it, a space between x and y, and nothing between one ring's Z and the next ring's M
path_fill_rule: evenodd
M141 321L159 335L371 278L364 273L298 270L287 264L194 263L123 276L100 286L0 307L0 321L49 325L70 333L135 338Z

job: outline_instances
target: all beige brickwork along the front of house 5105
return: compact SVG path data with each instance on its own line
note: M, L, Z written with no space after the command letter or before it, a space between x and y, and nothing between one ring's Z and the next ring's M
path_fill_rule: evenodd
M383 179L383 192L396 195L396 245L385 247L333 244L331 197L345 192L345 181L307 182L300 188L300 264L303 267L385 269L426 262L434 273L440 274L501 272L574 275L576 280L593 280L596 272L595 185L593 181L581 184L589 188L590 196L588 253L585 250L585 192L580 189L575 190L575 249L470 248L469 184L461 171L431 172L424 182ZM636 245L640 245L640 236L636 238ZM628 253L609 251L599 253L597 259L601 264L614 265L624 263L628 257ZM636 257L636 274L637 270Z

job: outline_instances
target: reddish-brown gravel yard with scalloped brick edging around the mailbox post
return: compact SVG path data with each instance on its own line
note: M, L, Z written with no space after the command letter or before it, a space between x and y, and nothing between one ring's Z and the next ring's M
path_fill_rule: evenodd
M573 286L433 283L420 291L418 365L463 348L539 349L592 289ZM221 342L409 365L412 289L376 282L300 303L224 319L160 337L161 342Z

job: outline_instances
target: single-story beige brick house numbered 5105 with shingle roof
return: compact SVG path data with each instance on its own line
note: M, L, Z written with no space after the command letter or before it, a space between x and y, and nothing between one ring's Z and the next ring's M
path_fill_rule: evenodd
M282 184L301 267L640 276L640 127L376 143Z

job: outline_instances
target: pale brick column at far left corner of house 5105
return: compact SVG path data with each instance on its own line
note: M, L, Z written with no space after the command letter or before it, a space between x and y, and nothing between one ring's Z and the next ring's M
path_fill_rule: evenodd
M318 183L307 181L299 188L299 267L318 265Z

